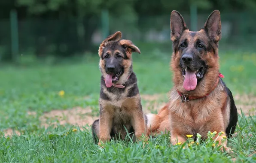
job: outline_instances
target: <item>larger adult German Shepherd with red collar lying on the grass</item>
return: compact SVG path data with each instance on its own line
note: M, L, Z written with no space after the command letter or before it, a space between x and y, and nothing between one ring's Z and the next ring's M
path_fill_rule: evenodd
M238 113L229 88L220 77L218 42L221 39L220 12L213 11L204 28L192 32L177 11L171 12L171 40L173 54L174 87L169 92L169 102L158 115L149 114L148 131L171 131L171 143L185 142L186 135L208 131L216 134L216 141L230 137L236 128ZM229 152L230 148L224 148Z

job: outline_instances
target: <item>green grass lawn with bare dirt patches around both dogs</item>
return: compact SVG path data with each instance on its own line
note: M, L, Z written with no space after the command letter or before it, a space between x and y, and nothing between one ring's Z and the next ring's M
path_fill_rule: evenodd
M173 85L171 54L133 55L143 110L156 113ZM0 67L0 162L256 162L256 53L219 55L239 110L229 141L234 154L222 153L212 142L173 146L165 134L145 146L113 142L101 149L93 144L90 128L99 115L97 54L54 65L28 64L23 55L21 65Z

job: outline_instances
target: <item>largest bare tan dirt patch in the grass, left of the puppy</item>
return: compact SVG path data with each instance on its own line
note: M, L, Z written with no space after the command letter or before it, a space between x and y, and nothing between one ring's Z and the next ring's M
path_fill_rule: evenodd
M93 121L98 119L95 116L88 116L88 113L91 113L91 108L76 107L67 110L52 110L42 115L39 119L44 127L49 127L52 124L56 125L57 121L61 125L71 124L83 127L86 124L91 125ZM49 121L53 121L53 123L49 123Z

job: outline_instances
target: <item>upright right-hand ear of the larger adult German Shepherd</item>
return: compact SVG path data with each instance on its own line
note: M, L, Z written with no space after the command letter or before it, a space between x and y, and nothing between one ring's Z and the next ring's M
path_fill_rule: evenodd
M217 43L221 39L221 21L219 10L213 11L204 24L204 30L213 42Z

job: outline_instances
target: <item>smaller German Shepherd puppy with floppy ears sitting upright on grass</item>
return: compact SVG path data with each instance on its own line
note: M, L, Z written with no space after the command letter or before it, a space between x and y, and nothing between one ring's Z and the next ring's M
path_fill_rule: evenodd
M93 139L98 145L110 141L110 138L124 140L127 135L125 127L133 138L146 134L147 120L131 59L132 52L140 53L140 49L130 40L120 40L121 36L119 31L108 36L98 51L102 74L100 119L92 124Z

